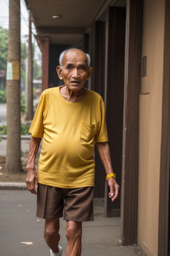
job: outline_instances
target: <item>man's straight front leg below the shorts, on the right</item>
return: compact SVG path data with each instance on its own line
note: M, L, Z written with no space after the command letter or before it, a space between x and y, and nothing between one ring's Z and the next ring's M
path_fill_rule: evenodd
M66 256L80 256L82 251L82 222L67 221L66 223L67 249Z

